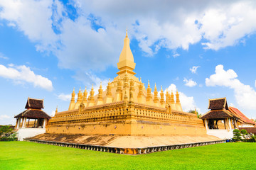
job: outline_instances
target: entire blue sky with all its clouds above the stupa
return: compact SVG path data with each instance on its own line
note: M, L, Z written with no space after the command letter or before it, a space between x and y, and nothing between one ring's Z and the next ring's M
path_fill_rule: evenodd
M184 111L226 97L256 117L255 1L0 0L0 125L15 123L28 96L52 115L73 87L106 85L126 28L136 76L178 89Z

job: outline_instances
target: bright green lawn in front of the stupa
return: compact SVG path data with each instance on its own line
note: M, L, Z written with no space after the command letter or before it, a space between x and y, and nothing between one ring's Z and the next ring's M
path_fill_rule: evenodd
M131 156L33 142L0 142L0 169L256 169L256 143Z

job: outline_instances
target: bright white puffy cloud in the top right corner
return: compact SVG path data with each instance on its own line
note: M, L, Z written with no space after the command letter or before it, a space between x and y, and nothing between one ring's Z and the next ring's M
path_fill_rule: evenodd
M228 5L228 4L227 4ZM219 50L223 47L244 43L245 36L256 31L255 1L236 1L230 6L210 8L199 19L206 49Z

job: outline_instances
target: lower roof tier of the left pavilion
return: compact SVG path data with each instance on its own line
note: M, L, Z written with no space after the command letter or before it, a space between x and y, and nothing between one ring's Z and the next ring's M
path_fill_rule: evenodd
M50 118L50 116L48 114L46 114L44 111L41 111L39 109L28 109L28 110L23 111L20 114L14 116L14 118L20 118L20 117L26 117L26 118Z

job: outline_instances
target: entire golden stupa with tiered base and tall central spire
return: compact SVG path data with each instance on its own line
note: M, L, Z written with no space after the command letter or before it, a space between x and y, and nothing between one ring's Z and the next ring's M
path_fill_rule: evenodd
M56 111L46 134L37 139L56 141L69 135L73 142L118 148L218 140L206 135L203 121L196 114L182 111L178 91L176 101L173 91L166 92L165 100L162 87L159 94L156 84L152 94L149 82L145 87L134 76L135 65L126 33L117 63L118 75L108 82L107 89L103 91L100 84L95 95L92 84L89 96L87 89L83 93L79 90L76 102L74 89L68 111Z

